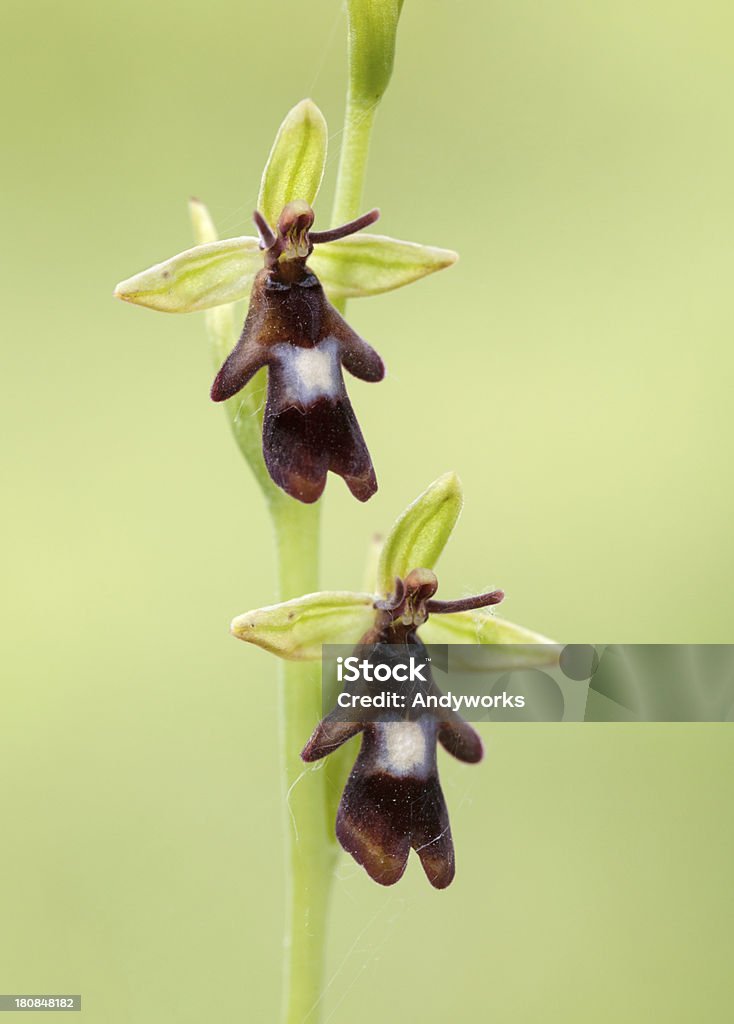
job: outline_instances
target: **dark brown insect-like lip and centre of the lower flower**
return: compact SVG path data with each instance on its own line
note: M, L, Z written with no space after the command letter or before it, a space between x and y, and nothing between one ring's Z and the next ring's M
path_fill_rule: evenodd
M502 591L461 601L436 601L437 581L428 569L415 569L397 580L395 592L376 602L375 626L361 640L371 647L418 647L418 629L429 614L445 614L496 604ZM427 690L438 693L433 679ZM389 886L403 874L411 849L418 854L429 882L445 889L456 864L448 811L438 778L437 744L469 764L482 758L478 733L460 715L441 710L395 721L371 714L344 721L336 711L316 727L302 752L317 761L361 733L361 748L347 780L337 814L337 837L370 877Z

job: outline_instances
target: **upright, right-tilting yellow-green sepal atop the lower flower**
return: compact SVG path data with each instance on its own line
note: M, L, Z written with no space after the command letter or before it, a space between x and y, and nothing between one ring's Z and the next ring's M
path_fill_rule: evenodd
M456 473L444 473L408 505L390 530L380 555L378 590L389 594L395 577L432 569L451 536L464 499Z

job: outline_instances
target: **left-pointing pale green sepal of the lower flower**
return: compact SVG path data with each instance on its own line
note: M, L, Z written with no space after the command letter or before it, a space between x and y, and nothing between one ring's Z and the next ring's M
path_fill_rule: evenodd
M321 656L321 644L356 644L375 621L372 594L322 591L248 611L231 632L293 662Z

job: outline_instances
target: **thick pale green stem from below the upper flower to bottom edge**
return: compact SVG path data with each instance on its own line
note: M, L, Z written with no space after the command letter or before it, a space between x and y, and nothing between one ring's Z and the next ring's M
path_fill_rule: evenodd
M279 598L318 588L318 505L271 503ZM327 776L304 770L300 751L321 718L320 666L280 663L280 740L287 809L287 926L284 1020L315 1024L320 1014L327 915L337 847L330 834Z

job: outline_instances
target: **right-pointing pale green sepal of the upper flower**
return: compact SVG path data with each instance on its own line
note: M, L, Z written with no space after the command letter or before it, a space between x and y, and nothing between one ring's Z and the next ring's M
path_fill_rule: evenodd
M450 249L383 234L352 234L316 246L309 265L333 298L380 295L457 262Z

